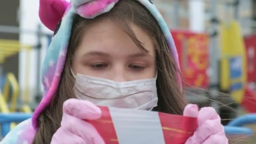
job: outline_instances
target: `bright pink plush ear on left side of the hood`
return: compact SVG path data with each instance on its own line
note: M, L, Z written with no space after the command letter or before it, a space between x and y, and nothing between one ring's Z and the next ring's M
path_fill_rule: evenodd
M40 0L39 17L45 27L54 31L69 4L66 0Z

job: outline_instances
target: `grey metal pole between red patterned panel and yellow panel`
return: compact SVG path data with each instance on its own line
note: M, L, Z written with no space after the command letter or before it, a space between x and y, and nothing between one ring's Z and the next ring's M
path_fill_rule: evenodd
M209 95L210 98L216 100L219 93L219 51L218 51L218 41L217 41L217 0L211 0L211 18L212 18L212 33L210 37L210 49L209 49L209 57L210 57L210 88ZM215 101L211 102L211 107L215 108L217 112L219 112L219 104Z

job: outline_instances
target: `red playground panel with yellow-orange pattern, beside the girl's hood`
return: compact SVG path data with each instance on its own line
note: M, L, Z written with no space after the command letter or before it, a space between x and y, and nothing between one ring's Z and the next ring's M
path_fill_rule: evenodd
M208 88L209 36L205 33L171 30L179 54L184 85Z

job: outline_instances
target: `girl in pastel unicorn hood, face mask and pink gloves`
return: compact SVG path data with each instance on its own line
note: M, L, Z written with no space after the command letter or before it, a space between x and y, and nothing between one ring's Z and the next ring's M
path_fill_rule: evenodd
M96 105L182 115L176 48L151 0L40 0L39 15L55 31L42 68L44 97L3 143L103 144L84 121L101 117ZM188 105L184 115L198 117L187 144L227 144L213 108Z

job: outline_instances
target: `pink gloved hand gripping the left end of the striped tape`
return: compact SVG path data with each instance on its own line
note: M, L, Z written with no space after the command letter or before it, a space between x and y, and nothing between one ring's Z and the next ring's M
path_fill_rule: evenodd
M90 101L65 101L61 127L54 133L51 144L105 144L93 125L85 121L100 117L101 109Z

